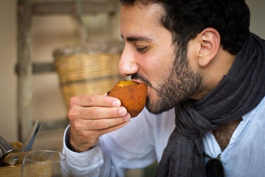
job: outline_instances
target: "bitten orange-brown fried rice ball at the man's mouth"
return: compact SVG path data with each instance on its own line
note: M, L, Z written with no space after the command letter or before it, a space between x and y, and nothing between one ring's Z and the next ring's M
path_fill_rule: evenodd
M131 118L138 116L143 110L146 95L146 84L126 80L117 82L107 93L107 96L118 98L121 101L122 106L131 114Z

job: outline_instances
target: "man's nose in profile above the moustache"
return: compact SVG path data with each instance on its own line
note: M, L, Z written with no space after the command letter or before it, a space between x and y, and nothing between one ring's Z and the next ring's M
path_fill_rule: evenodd
M132 50L125 46L119 62L119 72L123 77L137 73L139 65Z

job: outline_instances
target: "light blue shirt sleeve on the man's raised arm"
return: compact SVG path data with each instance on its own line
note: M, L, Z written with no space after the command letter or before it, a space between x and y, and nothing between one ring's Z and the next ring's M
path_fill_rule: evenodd
M63 153L72 176L124 176L127 169L143 168L156 160L152 123L141 112L130 123L99 137L89 151L76 153L67 148L65 130ZM149 113L148 113L149 114Z

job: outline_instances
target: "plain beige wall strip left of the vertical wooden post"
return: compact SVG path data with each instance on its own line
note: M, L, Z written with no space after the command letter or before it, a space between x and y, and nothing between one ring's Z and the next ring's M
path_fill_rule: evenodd
M0 135L9 141L18 138L17 78L17 1L0 0Z

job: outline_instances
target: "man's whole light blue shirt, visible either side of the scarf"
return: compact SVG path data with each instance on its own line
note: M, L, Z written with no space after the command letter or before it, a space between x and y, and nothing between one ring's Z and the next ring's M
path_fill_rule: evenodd
M228 177L265 176L265 97L242 119L223 152L213 133L206 133L205 152L212 157L221 154ZM64 141L63 153L74 176L124 176L126 169L159 162L174 128L174 109L160 115L144 109L125 127L100 137L91 150L75 153Z

